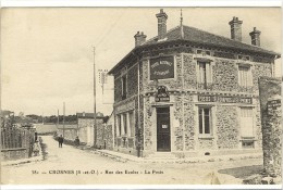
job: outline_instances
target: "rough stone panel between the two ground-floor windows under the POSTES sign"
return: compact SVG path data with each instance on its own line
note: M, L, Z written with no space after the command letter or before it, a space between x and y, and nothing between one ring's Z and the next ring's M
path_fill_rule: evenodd
M236 106L217 106L217 144L219 149L237 149L239 124Z

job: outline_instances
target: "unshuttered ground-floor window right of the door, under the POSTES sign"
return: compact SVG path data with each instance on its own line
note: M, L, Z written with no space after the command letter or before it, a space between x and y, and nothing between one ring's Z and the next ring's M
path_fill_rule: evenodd
M211 134L211 109L210 107L198 107L198 128L199 134L210 135Z

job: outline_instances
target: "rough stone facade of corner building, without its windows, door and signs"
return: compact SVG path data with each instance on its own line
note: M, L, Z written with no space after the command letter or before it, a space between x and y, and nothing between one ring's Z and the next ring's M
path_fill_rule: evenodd
M174 54L174 53L173 53ZM172 104L171 115L171 151L172 152L197 152L202 150L205 152L212 150L235 150L242 149L241 137L241 115L239 110L242 106L253 109L255 117L254 125L254 149L261 147L261 121L260 109L258 100L258 87L256 83L259 76L271 76L271 66L267 63L256 63L248 61L250 66L253 84L249 89L241 89L238 85L238 62L237 60L208 56L212 60L211 73L212 83L210 88L204 89L198 87L197 83L197 60L194 59L194 53L180 53L174 54L175 61L175 77L174 79L160 80L158 85L165 86L170 93ZM135 144L142 142L144 155L151 154L157 151L157 113L156 113L156 87L153 81L149 79L149 59L140 61L139 67L139 105L137 103L137 65L131 66L131 72L127 75L128 94L126 100L121 98L121 78L115 76L115 107L126 104L133 99L136 101L135 107L135 129L140 127L142 136L135 136ZM131 89L131 90L130 90ZM254 89L254 91L251 90ZM220 96L232 97L231 99L250 98L251 104L243 103L225 103L225 102L207 102L207 105L212 105L211 111L214 116L212 117L212 137L204 138L198 134L198 107L199 103L206 105L206 102L199 102L197 99L204 94L206 96ZM241 94L238 94L241 92ZM139 106L139 111L137 112ZM158 105L157 105L158 106ZM139 116L138 116L139 113ZM138 123L139 119L139 123ZM116 121L116 117L115 117ZM116 123L114 127L116 126ZM114 137L116 130L114 130ZM114 147L119 151L123 150L123 139L114 138ZM131 148L132 150L133 148ZM137 149L135 145L134 149ZM247 151L246 149L243 151ZM133 153L133 152L132 152Z

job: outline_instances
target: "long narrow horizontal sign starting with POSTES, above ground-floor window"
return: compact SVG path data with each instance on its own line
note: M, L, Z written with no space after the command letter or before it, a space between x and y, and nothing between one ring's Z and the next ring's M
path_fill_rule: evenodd
M220 102L220 103L245 103L251 104L251 98L241 97L218 97L218 96L198 96L199 102Z

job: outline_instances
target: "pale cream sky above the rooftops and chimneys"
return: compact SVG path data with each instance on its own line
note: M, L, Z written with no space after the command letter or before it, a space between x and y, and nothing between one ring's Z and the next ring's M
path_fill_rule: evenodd
M182 8L184 25L230 38L233 16L243 21L243 42L254 27L261 47L281 52L280 8ZM157 36L159 8L4 8L1 10L1 106L15 114L111 114L113 78L102 94L99 69L111 69L135 45L134 35ZM180 24L180 8L164 8L168 29ZM94 47L95 59L94 59ZM281 59L276 61L281 76Z

